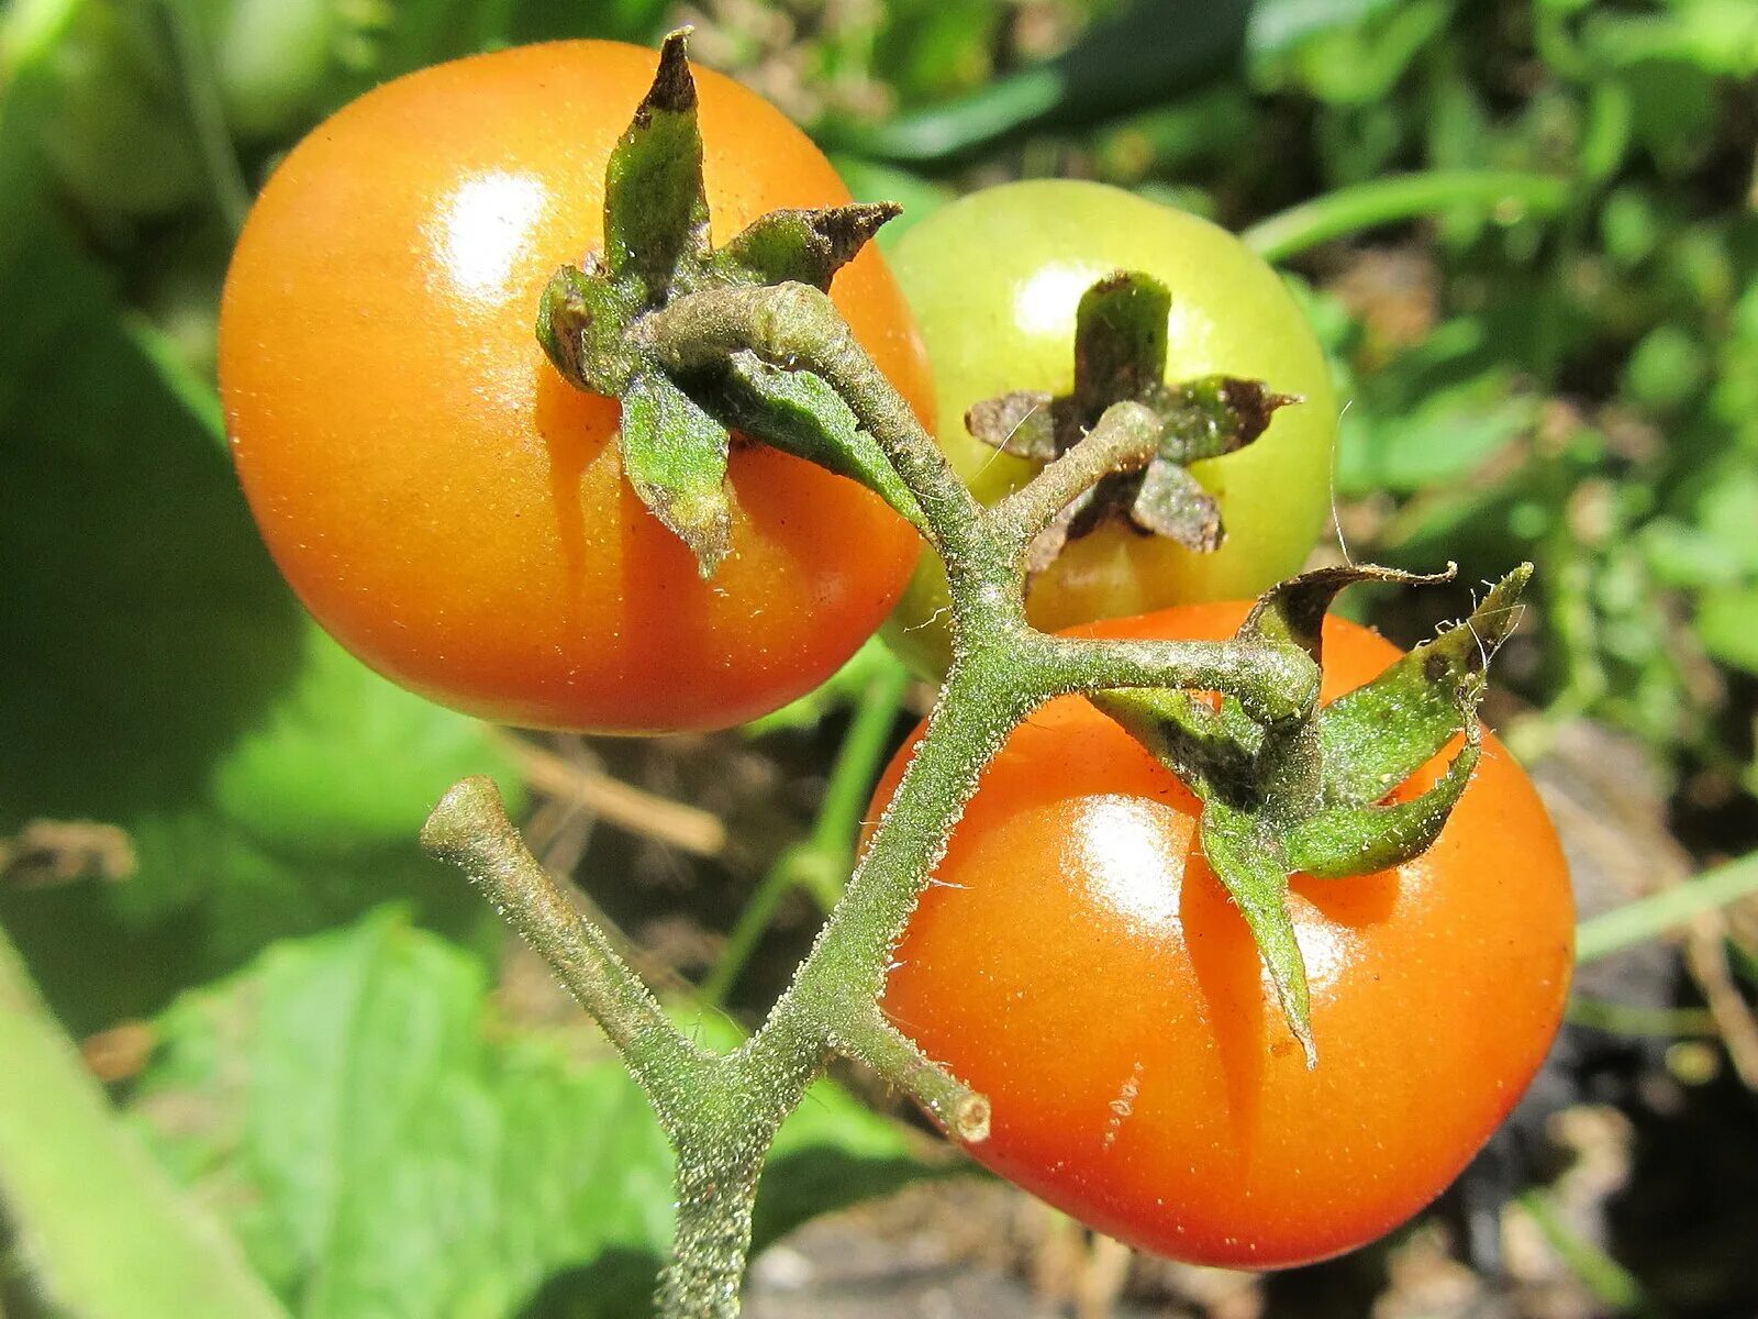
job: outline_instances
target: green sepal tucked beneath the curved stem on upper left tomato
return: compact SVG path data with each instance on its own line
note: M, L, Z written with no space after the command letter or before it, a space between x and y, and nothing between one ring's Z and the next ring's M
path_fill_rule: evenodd
M786 454L860 482L928 535L928 521L879 441L860 427L849 404L823 378L810 371L782 371L756 353L740 352L705 396L728 426L761 434Z

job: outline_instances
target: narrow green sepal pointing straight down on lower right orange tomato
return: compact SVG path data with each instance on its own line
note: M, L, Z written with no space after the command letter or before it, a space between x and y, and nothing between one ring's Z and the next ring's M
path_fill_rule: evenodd
M1276 987L1282 1015L1306 1055L1306 1068L1318 1066L1313 1043L1311 997L1306 958L1301 957L1289 918L1289 864L1282 841L1260 818L1227 802L1202 802L1199 821L1202 855L1252 930L1264 969Z

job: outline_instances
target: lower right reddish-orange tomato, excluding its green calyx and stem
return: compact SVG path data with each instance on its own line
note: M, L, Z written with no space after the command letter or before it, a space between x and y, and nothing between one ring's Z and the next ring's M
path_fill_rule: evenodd
M1218 640L1245 608L1078 631ZM1396 654L1327 619L1326 700ZM1044 705L984 772L881 1006L990 1097L992 1134L970 1154L1099 1231L1234 1268L1341 1254L1433 1199L1544 1060L1573 955L1563 853L1531 783L1486 737L1420 858L1296 876L1318 1046L1306 1071L1195 814L1085 700Z

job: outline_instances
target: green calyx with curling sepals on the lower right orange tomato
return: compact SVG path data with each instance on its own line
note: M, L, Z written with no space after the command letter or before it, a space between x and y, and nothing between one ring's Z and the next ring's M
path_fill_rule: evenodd
M1245 916L1283 1018L1317 1066L1306 966L1287 911L1289 878L1343 879L1420 856L1440 837L1477 769L1477 705L1491 656L1519 619L1531 575L1522 565L1471 614L1385 668L1373 682L1278 725L1239 703L1187 691L1090 696L1201 800L1202 853ZM1355 582L1450 580L1375 566L1322 568L1264 593L1236 633L1243 645L1297 645L1322 665L1324 614ZM1456 735L1440 779L1387 800Z

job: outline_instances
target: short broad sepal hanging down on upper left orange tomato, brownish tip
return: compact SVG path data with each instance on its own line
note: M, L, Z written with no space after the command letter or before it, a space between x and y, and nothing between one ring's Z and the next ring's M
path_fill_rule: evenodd
M701 575L731 543L726 455L731 436L663 371L640 369L622 390L622 470L654 515L675 531Z

